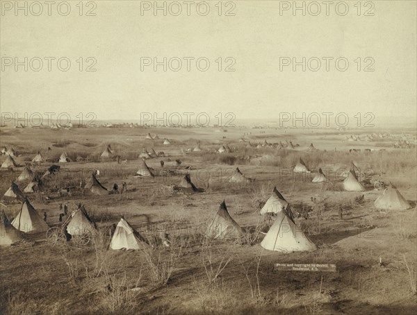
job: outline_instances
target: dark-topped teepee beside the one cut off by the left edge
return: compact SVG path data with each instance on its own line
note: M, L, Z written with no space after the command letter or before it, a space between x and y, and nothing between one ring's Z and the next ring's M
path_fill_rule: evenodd
M47 232L49 229L49 225L43 221L40 214L38 214L27 199L22 204L22 208L15 219L13 219L12 225L17 228L17 230L29 234Z

